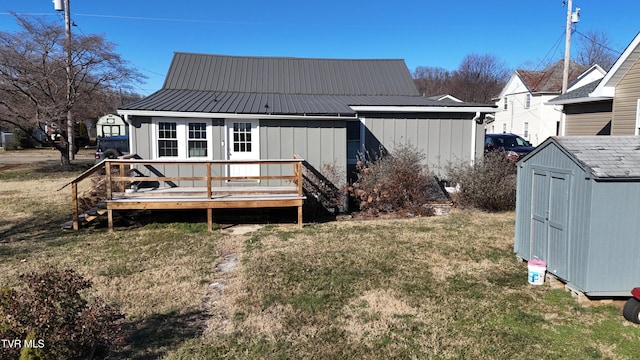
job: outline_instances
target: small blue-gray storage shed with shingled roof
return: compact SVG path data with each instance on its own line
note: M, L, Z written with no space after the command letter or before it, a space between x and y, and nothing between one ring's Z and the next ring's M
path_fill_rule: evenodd
M589 296L640 286L640 137L550 137L518 163L514 250Z

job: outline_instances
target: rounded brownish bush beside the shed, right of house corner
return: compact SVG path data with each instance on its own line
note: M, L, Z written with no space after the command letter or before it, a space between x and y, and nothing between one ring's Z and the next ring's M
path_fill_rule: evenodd
M508 211L516 207L516 166L500 152L486 153L473 165L458 163L446 169L456 185L454 198L463 207L485 211Z

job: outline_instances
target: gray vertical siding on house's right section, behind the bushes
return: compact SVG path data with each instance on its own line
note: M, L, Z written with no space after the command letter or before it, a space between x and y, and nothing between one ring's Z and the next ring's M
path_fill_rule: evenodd
M444 175L449 162L471 161L471 137L476 128L474 158L483 152L484 131L481 125L465 116L443 115L436 119L399 116L367 117L364 145L377 152L380 145L393 150L399 144L411 144L424 153L429 169Z

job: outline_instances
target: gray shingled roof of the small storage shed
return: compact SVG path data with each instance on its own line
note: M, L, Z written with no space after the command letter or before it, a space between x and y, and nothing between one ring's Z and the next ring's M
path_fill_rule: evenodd
M640 136L552 137L597 178L640 178Z

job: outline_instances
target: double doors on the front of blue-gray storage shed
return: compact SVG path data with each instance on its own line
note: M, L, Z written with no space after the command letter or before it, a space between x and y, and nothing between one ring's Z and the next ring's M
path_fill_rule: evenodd
M570 174L534 170L531 209L531 257L545 260L547 270L566 278L567 219Z

